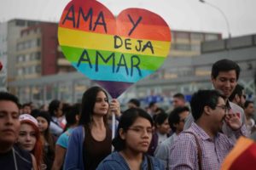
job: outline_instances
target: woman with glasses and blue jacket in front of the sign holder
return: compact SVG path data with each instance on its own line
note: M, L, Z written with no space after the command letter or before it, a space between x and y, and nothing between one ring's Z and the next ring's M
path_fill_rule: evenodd
M106 157L97 170L164 169L160 160L146 154L152 133L153 120L146 111L138 108L125 111L119 120L118 134L113 139L116 151Z

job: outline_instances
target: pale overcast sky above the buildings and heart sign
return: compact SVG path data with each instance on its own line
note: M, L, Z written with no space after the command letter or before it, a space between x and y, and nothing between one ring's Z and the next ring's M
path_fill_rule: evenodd
M206 0L225 14L232 37L256 34L256 0ZM59 21L69 0L0 0L0 22L10 19ZM160 14L171 30L211 31L228 36L224 16L199 0L99 0L113 14L146 8Z

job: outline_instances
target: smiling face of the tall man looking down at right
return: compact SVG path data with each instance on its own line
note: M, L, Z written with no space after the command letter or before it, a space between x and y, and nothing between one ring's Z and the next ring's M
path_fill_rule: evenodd
M225 98L229 98L236 88L236 71L219 71L216 78L212 77L212 84L216 90L220 90Z

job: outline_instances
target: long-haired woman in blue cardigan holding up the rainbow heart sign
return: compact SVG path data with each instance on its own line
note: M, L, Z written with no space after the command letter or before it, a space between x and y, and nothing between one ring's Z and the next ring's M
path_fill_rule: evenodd
M64 169L95 170L111 153L108 111L120 114L117 99L109 104L108 94L100 87L92 87L84 92L79 127L70 136Z

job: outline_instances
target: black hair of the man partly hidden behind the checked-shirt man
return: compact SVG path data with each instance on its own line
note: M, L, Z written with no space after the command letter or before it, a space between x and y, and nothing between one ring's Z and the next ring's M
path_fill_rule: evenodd
M189 111L189 107L187 106L183 106L183 107L177 107L177 108L174 108L170 115L168 116L168 122L169 122L169 125L170 127L172 128L172 132L175 132L176 131L176 127L174 127L174 124L177 124L178 122L180 122L180 117L179 115L181 113L183 113L183 111Z

